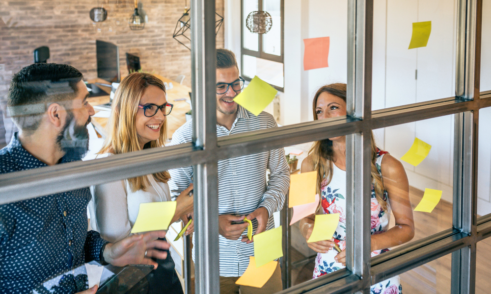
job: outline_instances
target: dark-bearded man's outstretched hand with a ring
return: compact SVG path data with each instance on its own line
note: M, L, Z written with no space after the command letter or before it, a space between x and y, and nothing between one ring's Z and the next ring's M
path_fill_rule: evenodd
M165 231L154 231L135 234L114 244L109 243L104 249L104 260L116 267L145 264L157 269L158 264L151 258L167 258L167 252L159 249L169 249L170 245L164 240L157 240L164 237Z

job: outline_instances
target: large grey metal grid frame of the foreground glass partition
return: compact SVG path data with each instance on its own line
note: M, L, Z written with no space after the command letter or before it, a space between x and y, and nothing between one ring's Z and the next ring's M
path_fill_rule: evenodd
M491 107L491 92L479 93L482 0L459 1L456 97L378 111L370 111L373 0L348 4L348 116L217 138L215 1L193 0L192 89L194 97L204 97L193 101L193 143L3 174L0 204L192 165L196 293L219 293L218 160L347 135L347 176L352 183L347 202L356 212L347 220L352 224L347 269L281 293L368 294L371 284L450 253L452 293L474 293L476 243L491 237L491 214L478 219L476 213L479 109ZM450 114L455 114L453 228L370 259L369 132Z

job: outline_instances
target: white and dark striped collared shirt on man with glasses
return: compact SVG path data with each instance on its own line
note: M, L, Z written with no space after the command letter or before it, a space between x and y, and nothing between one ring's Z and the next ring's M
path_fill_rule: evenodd
M237 119L230 131L217 125L217 136L228 136L248 131L276 127L273 116L261 112L254 116L238 106ZM172 135L171 145L192 141L192 120ZM266 170L270 170L266 181ZM184 190L191 183L192 167L170 170L171 190ZM274 227L273 212L281 210L290 185L290 172L283 148L227 158L218 161L218 214L246 216L258 207L265 207L269 213L267 229ZM174 194L173 197L178 194ZM253 233L257 221L253 220ZM246 231L244 232L246 234ZM254 244L225 239L219 235L220 276L237 277L246 271L249 256L254 255ZM194 238L192 239L194 242ZM192 251L194 260L194 247Z

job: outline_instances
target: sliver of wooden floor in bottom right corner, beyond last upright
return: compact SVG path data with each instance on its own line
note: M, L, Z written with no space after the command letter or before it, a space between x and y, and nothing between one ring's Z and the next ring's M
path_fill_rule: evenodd
M491 239L487 238L476 245L476 294L488 294L491 289L490 269Z

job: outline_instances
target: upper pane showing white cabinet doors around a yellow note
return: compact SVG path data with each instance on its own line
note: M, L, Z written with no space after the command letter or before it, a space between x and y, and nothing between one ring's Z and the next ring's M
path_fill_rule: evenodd
M455 96L456 17L454 0L374 1L373 110ZM427 45L408 49L428 21Z

